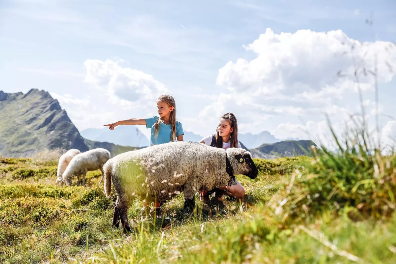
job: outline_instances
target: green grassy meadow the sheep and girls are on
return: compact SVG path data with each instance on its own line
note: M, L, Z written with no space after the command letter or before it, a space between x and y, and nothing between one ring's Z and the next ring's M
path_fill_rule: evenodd
M57 161L2 158L0 262L395 263L394 156L354 147L255 163L255 180L237 176L247 208L225 199L209 214L196 197L188 217L179 195L162 205L165 218L141 221L136 200L123 235L99 171L84 187L58 187Z

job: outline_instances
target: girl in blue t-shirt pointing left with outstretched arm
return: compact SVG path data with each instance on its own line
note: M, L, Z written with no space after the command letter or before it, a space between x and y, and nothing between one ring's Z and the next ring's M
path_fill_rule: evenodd
M176 103L175 99L169 95L162 95L157 100L158 115L150 118L131 118L123 121L118 121L112 124L105 124L109 126L110 130L113 130L119 125L135 125L141 124L146 125L146 128L151 129L150 146L158 145L162 143L183 141L183 127L180 122L176 121ZM161 203L153 203L153 207L150 212L160 209ZM143 208L147 208L147 204L143 201ZM158 215L159 212L157 212Z

